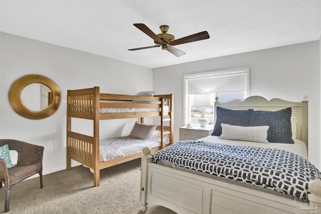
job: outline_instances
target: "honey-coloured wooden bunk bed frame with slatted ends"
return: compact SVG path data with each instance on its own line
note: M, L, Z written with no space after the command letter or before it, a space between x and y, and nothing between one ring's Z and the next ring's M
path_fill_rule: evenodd
M133 102L134 101L134 102ZM135 102L136 101L136 102ZM166 104L166 105L165 105ZM99 87L67 91L67 170L71 169L71 159L92 168L94 186L99 186L100 169L140 158L137 152L100 162L99 160L99 121L121 118L161 117L161 125L156 130L161 132L161 146L152 149L152 153L173 144L173 94L153 95L153 97L100 93ZM165 107L168 106L168 109ZM104 112L102 110L121 108L131 112ZM147 108L147 110L146 110ZM135 110L133 110L135 109ZM136 111L137 109L137 111ZM145 109L139 112L139 109ZM156 109L156 110L155 110ZM93 136L72 131L72 118L93 121ZM166 124L166 126L165 126ZM170 143L165 145L163 138Z

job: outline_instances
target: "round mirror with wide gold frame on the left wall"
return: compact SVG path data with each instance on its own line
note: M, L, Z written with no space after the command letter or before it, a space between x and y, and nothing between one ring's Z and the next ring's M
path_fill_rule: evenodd
M39 93L34 93L35 91L39 91ZM37 100L37 98L35 99L33 97L38 96L36 94L40 97L39 103L41 103L41 106L39 108L31 107L37 103L34 101ZM9 90L11 107L17 114L28 119L38 120L49 117L57 111L60 101L60 89L56 83L42 75L31 74L23 76L16 80ZM33 105L28 103L32 103ZM40 110L38 111L38 109Z

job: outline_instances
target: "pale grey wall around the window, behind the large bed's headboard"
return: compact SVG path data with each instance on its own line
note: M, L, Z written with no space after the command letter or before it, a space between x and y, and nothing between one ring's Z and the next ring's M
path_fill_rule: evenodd
M215 51L215 50L213 50ZM188 53L187 53L188 54ZM182 56L184 57L184 56ZM183 126L183 75L250 67L250 95L301 101L309 96L309 160L320 166L319 41L153 69L153 90L174 94L175 141ZM174 86L174 87L173 87Z

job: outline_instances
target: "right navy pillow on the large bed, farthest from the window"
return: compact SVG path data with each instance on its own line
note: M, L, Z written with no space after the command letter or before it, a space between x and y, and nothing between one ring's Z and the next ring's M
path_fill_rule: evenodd
M250 126L269 126L267 140L270 143L293 144L291 114L291 108L278 111L253 111Z

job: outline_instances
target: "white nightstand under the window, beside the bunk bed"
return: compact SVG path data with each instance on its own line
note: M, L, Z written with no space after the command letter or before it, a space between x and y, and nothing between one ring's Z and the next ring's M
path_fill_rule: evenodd
M187 128L186 126L180 127L180 140L197 140L211 135L213 132L212 127L193 127Z

